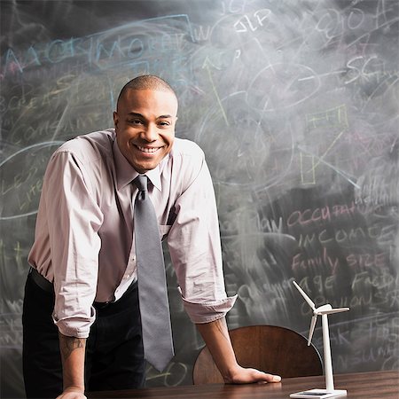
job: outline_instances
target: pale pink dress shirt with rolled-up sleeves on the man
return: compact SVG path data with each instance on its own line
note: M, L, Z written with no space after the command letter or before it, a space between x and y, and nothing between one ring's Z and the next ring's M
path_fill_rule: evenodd
M212 180L200 147L176 138L171 153L146 175L161 239L184 309L194 323L223 317L236 296L224 288ZM28 262L54 285L53 319L67 336L87 338L93 301L117 301L137 279L133 207L137 171L113 129L67 141L51 156Z

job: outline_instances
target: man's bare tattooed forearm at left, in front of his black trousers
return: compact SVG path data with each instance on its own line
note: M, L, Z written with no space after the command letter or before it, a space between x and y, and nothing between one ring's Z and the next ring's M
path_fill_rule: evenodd
M66 337L59 332L64 392L84 393L84 357L86 339Z

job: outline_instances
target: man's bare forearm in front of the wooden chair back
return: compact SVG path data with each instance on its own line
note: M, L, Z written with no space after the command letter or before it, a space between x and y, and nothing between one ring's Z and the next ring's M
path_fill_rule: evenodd
M234 370L239 367L225 318L211 323L198 324L197 328L211 353L225 382L231 382Z

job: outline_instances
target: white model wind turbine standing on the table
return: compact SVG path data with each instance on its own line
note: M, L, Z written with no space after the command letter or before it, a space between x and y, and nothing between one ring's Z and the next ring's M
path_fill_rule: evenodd
M292 394L290 397L294 398L330 398L338 396L346 396L347 391L345 389L334 389L334 381L332 376L332 358L331 358L331 348L330 348L330 333L328 331L328 315L332 313L340 313L349 310L349 308L336 308L332 309L332 306L327 303L323 306L316 308L313 301L310 300L309 296L301 289L298 284L293 281L293 285L298 288L305 301L309 303L310 308L313 310L313 316L310 321L309 338L308 345L312 340L313 332L315 331L315 326L317 322L317 316L321 315L322 325L323 325L323 349L324 349L324 360L325 360L325 389L310 389L309 391L298 392L297 394Z

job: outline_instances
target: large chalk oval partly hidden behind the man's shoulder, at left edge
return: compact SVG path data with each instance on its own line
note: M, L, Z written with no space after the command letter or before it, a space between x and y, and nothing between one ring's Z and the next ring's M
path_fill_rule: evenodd
M63 143L29 145L0 162L0 220L37 213L47 162Z

